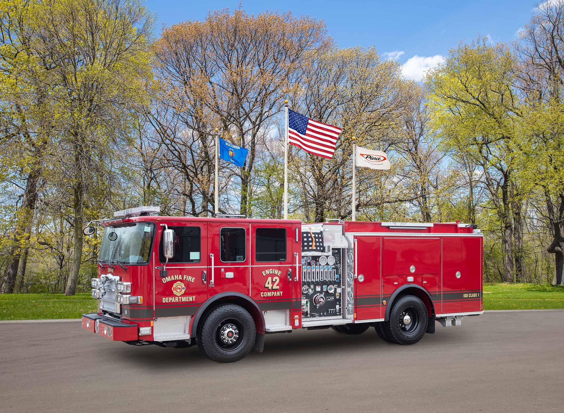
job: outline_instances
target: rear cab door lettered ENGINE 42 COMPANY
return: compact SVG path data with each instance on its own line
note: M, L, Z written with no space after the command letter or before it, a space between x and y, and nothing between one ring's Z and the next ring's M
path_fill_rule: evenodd
M293 285L299 274L294 251L296 236L292 224L257 223L250 225L252 234L252 275L250 296L263 311L289 310L285 325L290 325L289 317L293 307L301 309L301 294L293 304ZM298 278L299 279L299 278ZM301 286L299 287L301 288ZM299 298L299 299L298 299ZM293 324L292 324L293 325Z

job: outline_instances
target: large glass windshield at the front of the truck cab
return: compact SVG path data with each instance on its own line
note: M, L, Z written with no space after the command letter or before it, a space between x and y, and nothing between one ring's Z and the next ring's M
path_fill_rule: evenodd
M155 224L138 223L104 228L99 260L120 264L147 264Z

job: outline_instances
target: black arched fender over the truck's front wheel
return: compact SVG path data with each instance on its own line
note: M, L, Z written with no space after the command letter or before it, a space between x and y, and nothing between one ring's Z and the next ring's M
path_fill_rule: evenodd
M195 316L193 317L192 327L190 329L190 336L196 337L198 332L198 327L200 326L200 321L204 319L205 314L209 313L215 307L221 304L237 304L243 307L249 312L253 317L254 325L257 328L259 334L265 334L266 324L265 316L262 314L261 308L255 303L248 295L241 294L235 291L225 291L220 294L216 294L213 297L209 297L204 304L200 306L197 310Z

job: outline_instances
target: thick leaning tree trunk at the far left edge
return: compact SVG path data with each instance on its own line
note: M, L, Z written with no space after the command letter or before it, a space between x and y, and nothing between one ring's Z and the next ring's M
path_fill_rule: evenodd
M21 243L25 239L29 239L29 230L31 228L30 221L33 220L33 213L37 201L37 182L39 180L39 168L33 168L28 175L27 184L24 190L24 199L20 209L17 211L16 226L12 233L12 246L8 250L8 259L6 261L6 269L2 285L0 285L0 294L11 294L16 286L17 268L20 265ZM27 254L26 254L27 261Z

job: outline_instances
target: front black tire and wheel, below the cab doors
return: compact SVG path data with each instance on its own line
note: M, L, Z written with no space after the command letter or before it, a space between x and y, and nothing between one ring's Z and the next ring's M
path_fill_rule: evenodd
M249 354L255 334L253 317L243 307L224 304L206 316L197 342L209 359L231 363Z

